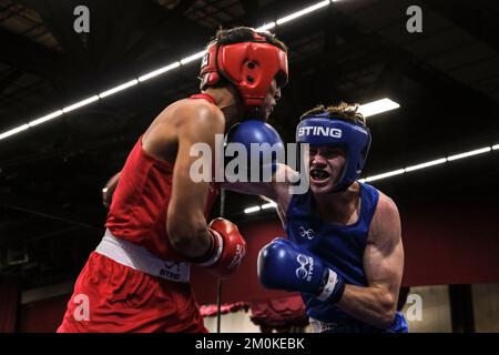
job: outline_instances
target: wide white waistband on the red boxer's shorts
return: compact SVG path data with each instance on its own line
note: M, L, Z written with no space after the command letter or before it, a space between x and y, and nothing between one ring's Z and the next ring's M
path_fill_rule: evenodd
M115 237L109 230L105 230L104 237L95 252L152 276L175 282L189 282L190 280L190 263L162 260L143 246Z

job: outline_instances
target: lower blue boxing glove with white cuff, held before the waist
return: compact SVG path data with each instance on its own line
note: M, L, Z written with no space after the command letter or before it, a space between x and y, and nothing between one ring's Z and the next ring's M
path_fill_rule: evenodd
M317 300L336 303L345 282L319 257L286 239L275 239L258 254L258 278L267 288L313 294Z

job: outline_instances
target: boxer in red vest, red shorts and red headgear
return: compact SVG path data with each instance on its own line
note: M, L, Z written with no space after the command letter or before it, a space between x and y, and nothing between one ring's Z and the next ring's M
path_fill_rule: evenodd
M227 277L245 242L230 221L207 225L218 186L191 179L196 158L190 149L205 143L214 151L215 134L242 118L267 120L287 81L286 47L267 32L221 30L208 54L203 92L169 105L104 189L106 232L77 280L58 332L206 332L190 265ZM236 80L242 67L252 78Z

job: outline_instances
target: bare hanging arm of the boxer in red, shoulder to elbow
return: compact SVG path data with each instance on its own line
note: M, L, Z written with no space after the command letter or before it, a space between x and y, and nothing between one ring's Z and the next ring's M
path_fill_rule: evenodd
M179 113L177 113L179 114ZM175 159L172 196L166 216L166 230L172 246L179 253L197 257L210 247L204 216L208 182L194 182L190 171L198 156L191 156L193 144L207 144L215 151L215 134L224 131L222 112L213 105L191 105L180 112L179 149ZM211 163L211 160L208 160Z

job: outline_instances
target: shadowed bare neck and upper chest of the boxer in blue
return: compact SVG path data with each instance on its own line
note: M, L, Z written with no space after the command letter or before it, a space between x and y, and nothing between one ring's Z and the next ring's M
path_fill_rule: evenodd
M360 186L354 183L346 191L314 194L315 209L324 222L348 225L360 214Z

